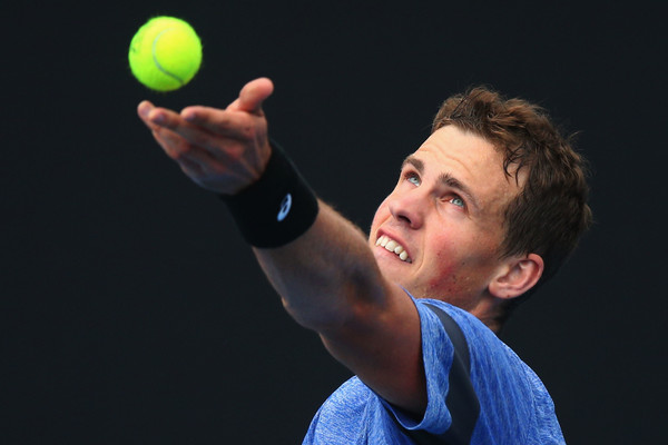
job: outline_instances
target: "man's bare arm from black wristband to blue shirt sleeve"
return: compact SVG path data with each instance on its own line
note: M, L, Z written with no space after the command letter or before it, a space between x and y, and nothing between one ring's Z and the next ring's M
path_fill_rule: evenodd
M390 403L422 413L418 310L382 276L357 227L321 202L303 236L255 253L286 310L317 332L332 356Z

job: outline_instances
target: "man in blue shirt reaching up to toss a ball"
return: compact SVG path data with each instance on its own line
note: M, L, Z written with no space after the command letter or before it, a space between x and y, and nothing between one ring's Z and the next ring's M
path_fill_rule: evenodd
M257 79L225 110L138 113L224 197L286 310L354 372L304 443L563 443L546 388L494 333L588 226L582 159L534 106L453 97L365 239L269 144L272 91Z

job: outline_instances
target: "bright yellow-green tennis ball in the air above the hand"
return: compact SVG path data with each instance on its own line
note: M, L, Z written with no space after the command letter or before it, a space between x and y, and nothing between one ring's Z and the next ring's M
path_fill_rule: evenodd
M128 53L132 75L157 91L171 91L188 83L202 63L202 42L187 22L156 17L132 37Z

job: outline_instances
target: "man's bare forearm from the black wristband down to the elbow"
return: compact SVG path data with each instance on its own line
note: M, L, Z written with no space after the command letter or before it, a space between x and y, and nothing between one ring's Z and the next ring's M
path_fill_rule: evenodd
M303 236L254 251L286 310L307 328L327 330L382 304L386 285L364 234L322 201Z

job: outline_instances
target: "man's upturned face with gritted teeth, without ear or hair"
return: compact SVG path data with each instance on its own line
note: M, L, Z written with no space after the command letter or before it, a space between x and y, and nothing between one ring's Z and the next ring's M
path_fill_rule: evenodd
M433 132L373 219L369 243L383 275L415 297L474 307L502 265L502 211L519 191L502 162L478 136Z

